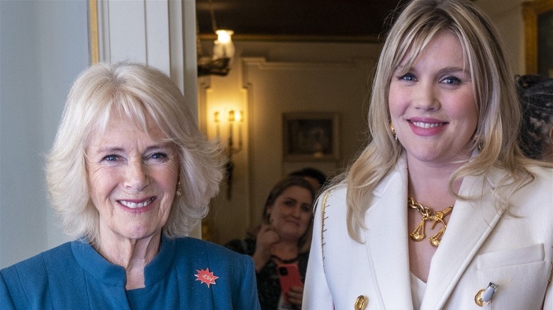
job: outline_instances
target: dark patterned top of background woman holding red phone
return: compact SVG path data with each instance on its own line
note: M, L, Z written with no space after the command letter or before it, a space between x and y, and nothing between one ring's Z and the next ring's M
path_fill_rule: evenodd
M228 241L225 247L231 250L252 256L255 253L255 239L247 238L243 240L235 239ZM306 281L307 261L309 253L298 254L298 269L301 275L301 282ZM279 304L281 294L279 275L277 273L277 264L269 260L261 271L256 272L257 277L257 295L262 310L276 310Z

